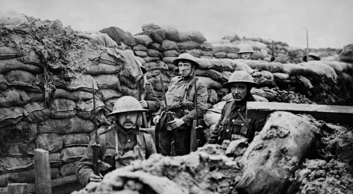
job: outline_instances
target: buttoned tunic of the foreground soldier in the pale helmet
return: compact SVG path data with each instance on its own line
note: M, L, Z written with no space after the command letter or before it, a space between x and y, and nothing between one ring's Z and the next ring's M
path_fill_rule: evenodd
M98 129L100 152L98 158L101 160L102 174L109 167L115 165L116 168L128 165L134 160L145 160L151 154L157 153L152 136L145 130L137 126L128 131L123 130L117 124L110 127ZM77 165L76 177L82 185L87 185L90 175L93 174L92 147L96 142L93 136L86 152ZM116 144L117 143L117 144ZM106 158L112 158L115 163L107 163ZM109 164L109 165L108 165Z

